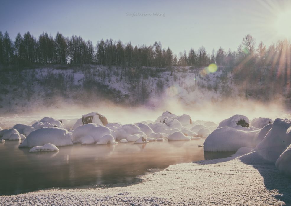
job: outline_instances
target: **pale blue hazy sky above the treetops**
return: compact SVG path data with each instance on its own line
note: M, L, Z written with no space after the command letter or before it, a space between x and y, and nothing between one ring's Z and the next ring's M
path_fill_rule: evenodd
M94 45L107 38L133 45L160 41L177 55L201 46L208 52L220 46L236 50L246 34L267 46L290 39L276 27L282 12L291 14L290 2L1 0L0 31L8 31L12 40L18 32L38 37L43 31L53 36L59 31L64 36L80 35Z

